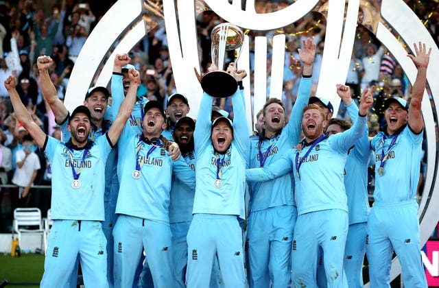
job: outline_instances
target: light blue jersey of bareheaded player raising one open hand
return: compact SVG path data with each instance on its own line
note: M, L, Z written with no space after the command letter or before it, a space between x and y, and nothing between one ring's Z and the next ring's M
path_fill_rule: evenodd
M263 139L260 144L259 137L250 138L250 160L248 161L250 168L261 167L259 145L263 157L271 145L264 163L264 165L270 165L299 142L300 133L302 132L300 125L302 110L308 104L309 93L311 93L311 77L302 77L298 97L285 128L274 135L272 139ZM293 188L294 176L292 173L287 173L273 180L248 182L248 192L250 194L248 213L281 205L296 205Z

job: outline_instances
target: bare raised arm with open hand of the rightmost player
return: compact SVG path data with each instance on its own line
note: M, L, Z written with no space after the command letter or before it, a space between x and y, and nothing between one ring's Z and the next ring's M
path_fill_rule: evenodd
M420 110L425 90L425 82L427 82L427 67L430 59L431 47L427 52L425 43L419 41L419 46L416 46L416 43L414 43L414 51L416 56L411 54L407 55L413 60L418 69L416 80L412 88L412 100L410 101L409 106L408 123L410 129L412 129L414 133L420 133L424 127L424 121Z

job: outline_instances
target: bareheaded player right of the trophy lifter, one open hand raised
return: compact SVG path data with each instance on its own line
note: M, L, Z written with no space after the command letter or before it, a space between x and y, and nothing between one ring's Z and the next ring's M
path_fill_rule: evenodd
M316 45L308 38L298 49L303 63L298 97L289 122L281 100L270 98L263 106L264 133L250 139L250 168L264 167L300 138L300 119L311 93L311 73ZM248 182L248 257L250 287L287 287L291 282L291 245L297 209L292 173L264 182Z

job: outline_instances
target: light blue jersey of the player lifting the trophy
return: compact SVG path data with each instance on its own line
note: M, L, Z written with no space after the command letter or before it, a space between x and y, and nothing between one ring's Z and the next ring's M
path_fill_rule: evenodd
M204 93L193 139L195 141L196 182L193 214L237 215L245 219L244 193L246 191L246 158L250 150L246 111L239 89L232 97L233 141L224 155L222 187L215 188L217 154L211 141L211 110L213 97Z

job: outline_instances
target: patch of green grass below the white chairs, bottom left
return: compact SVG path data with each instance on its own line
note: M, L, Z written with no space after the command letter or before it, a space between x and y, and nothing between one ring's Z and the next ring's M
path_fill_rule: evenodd
M39 287L44 271L44 255L22 254L15 258L0 254L0 283L8 280L6 287Z

